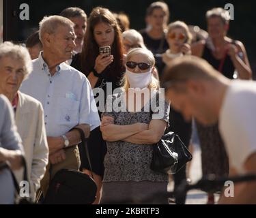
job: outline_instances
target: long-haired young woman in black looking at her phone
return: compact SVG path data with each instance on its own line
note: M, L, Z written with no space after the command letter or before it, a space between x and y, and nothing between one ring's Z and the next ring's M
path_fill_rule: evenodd
M100 54L102 46L111 46L111 54ZM94 90L103 91L100 93L104 93L104 99L99 97L100 93L95 96L98 99L96 104L100 116L106 103L106 93L112 93L114 89L120 87L125 70L123 59L122 33L115 16L107 8L95 7L88 18L82 52L76 55L71 65L87 76L91 87L96 88ZM107 90L108 87L111 90ZM94 204L98 204L104 174L103 160L106 154L106 142L99 127L91 131L88 145L93 172L89 171L89 163L84 153L81 155L81 168L83 172L92 173L94 176L98 186Z

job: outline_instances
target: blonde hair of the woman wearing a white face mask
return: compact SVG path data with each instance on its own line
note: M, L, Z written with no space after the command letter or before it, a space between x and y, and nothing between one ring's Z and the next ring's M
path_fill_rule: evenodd
M126 62L129 61L130 58L134 55L146 55L148 64L150 64L151 67L154 67L154 65L156 63L153 53L150 50L147 50L147 48L133 48L126 55ZM129 84L126 74L124 74L122 84L124 84L122 89L127 92L128 89L130 88L130 84ZM148 85L148 88L159 89L159 81L153 76L153 74L152 74L152 81Z

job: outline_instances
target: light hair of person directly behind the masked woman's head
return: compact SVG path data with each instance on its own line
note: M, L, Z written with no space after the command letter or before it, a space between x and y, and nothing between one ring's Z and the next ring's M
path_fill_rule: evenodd
M123 39L132 44L132 48L146 48L141 33L135 29L128 29L122 33Z

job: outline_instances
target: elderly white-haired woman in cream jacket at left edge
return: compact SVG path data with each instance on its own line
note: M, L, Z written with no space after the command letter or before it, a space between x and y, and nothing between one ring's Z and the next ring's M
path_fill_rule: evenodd
M0 45L0 93L12 102L18 134L23 141L31 198L40 187L48 163L48 144L44 127L44 112L38 100L18 91L21 82L32 70L27 48L4 42ZM18 181L22 172L15 172Z

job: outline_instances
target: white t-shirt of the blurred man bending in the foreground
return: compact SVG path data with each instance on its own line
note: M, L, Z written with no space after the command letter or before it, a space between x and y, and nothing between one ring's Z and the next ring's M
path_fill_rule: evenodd
M230 166L244 172L246 159L256 153L256 82L231 82L223 99L218 127Z

